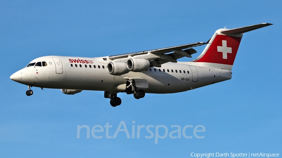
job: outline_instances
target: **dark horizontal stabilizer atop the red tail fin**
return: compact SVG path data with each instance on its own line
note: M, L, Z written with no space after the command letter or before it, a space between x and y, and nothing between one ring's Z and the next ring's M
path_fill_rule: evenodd
M251 25L251 26L245 26L245 27L239 27L239 28L224 30L224 31L221 31L221 33L224 33L224 34L226 34L226 33L228 33L228 34L245 33L245 32L253 31L253 30L256 30L258 28L266 27L266 26L269 26L269 25L273 25L273 24L271 24L271 23L261 23L261 24Z

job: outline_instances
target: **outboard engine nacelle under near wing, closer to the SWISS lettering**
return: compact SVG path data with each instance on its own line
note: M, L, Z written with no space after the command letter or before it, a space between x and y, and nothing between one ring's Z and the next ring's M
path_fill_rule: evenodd
M125 62L109 62L107 70L111 75L123 75L129 72Z

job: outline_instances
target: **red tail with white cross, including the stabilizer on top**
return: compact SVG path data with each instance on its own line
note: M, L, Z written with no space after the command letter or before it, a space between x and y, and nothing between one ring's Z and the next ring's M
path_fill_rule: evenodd
M243 33L272 25L262 23L234 29L219 29L209 40L204 51L193 60L203 67L231 70Z

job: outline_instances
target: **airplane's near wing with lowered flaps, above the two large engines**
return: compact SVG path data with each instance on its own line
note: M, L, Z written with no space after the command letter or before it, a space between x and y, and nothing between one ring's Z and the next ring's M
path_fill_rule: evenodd
M133 52L127 54L113 55L108 58L111 60L122 59L128 57L147 59L154 64L155 67L161 67L161 64L166 62L177 62L177 59L182 57L192 57L196 50L191 47L197 47L207 44L206 42L196 42L191 44L184 44L180 46L166 47L160 49L153 49L142 52ZM170 53L171 52L171 53ZM168 53L168 54L166 54Z

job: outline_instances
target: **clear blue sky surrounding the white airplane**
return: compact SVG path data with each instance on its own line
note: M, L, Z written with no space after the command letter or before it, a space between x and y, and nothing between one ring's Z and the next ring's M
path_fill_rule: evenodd
M194 153L282 154L280 1L0 1L1 157L191 157ZM232 79L175 94L118 94L113 108L102 91L65 95L10 76L37 57L101 57L206 42L219 28L274 23L244 34ZM205 46L196 47L198 53ZM180 61L190 61L183 58ZM203 125L204 139L159 139L147 131L128 139L76 138L77 125L125 121L137 125ZM144 129L144 128L143 128ZM105 129L104 129L105 130ZM152 128L154 131L154 128ZM175 130L175 129L173 129ZM165 132L160 129L160 135ZM136 129L135 129L136 132ZM187 135L193 135L187 128ZM99 135L99 134L97 134Z

